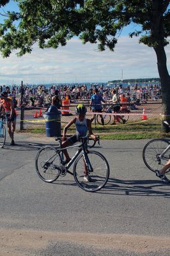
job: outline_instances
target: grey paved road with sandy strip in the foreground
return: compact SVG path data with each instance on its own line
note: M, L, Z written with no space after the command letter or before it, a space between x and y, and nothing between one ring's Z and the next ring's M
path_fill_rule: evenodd
M37 150L52 138L15 138L0 155L0 255L170 255L170 187L144 166L147 140L101 141L110 179L86 193L70 175L36 175Z

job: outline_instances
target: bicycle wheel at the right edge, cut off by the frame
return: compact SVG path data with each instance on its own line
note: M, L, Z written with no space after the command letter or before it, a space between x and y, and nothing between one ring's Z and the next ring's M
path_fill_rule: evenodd
M166 164L167 159L169 158L167 153L166 156L162 157L162 159L158 159L158 155L160 155L168 145L169 142L165 139L154 139L146 143L144 146L143 161L151 172L162 169L164 164Z

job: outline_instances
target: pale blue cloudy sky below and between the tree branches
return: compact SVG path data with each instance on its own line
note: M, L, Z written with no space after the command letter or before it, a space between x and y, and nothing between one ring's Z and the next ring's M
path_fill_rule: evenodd
M8 7L14 10L15 4ZM3 9L3 10L2 10ZM65 47L39 49L35 45L31 54L18 58L0 56L0 84L20 83L88 83L113 79L158 77L155 51L139 44L138 38L129 38L129 29L123 29L115 51L97 51L97 45L86 44L73 38ZM167 68L170 70L170 46L166 47Z

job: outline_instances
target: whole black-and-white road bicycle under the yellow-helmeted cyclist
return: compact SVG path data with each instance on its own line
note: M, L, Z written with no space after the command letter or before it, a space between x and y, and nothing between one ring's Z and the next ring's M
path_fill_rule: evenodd
M70 173L77 185L84 191L95 192L102 189L109 179L109 164L101 153L88 150L86 147L88 135L81 138L80 145L66 147L78 147L77 152L67 164L63 157L63 150L66 148L61 148L61 138L57 139L59 147L44 146L36 155L35 166L40 179L45 182L54 182L59 177L65 177L66 173ZM69 168L72 164L73 172L70 172ZM84 171L85 167L86 171ZM84 181L85 174L91 177L91 182Z

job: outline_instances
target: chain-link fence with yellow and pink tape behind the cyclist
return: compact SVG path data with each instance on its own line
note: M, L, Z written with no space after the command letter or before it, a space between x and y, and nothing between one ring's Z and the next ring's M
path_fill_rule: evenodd
M84 103L87 108L86 117L91 119L93 117L93 112L89 106L89 100L81 100L79 103ZM77 104L68 104L61 108L61 129L65 127L70 120L75 116L75 106ZM159 99L157 101L149 101L147 104L121 104L122 111L120 113L111 113L112 106L108 104L103 105L103 111L100 113L104 118L104 124L101 124L101 118L97 114L95 116L95 120L93 120L92 127L93 130L101 127L103 132L108 132L109 128L112 129L112 120L113 115L117 117L122 117L127 120L125 124L121 124L121 120L116 118L116 125L114 125L115 129L123 125L123 130L125 131L127 125L137 125L145 122L150 125L160 125L161 124L161 113L162 113L162 100ZM129 110L123 111L123 106L126 106L126 109ZM104 111L105 109L105 111ZM124 108L125 109L125 108ZM18 129L45 129L45 119L43 118L43 113L47 111L47 108L27 108L24 107L23 111L20 111L20 108L17 109L17 128ZM22 112L22 113L21 113ZM20 113L22 115L20 115Z

